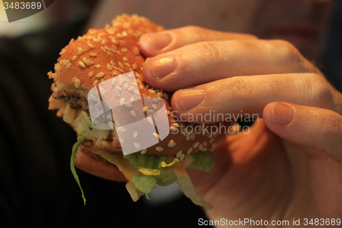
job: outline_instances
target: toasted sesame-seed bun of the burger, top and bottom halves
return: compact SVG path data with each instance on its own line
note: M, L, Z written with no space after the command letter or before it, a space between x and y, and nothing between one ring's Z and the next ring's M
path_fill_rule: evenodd
M123 14L117 16L111 26L89 29L86 35L71 40L60 52L61 56L55 64L55 73L48 73L49 77L54 79L49 109L58 110L57 116L63 117L64 121L77 131L73 121L82 111L89 115L88 92L102 81L133 71L139 92L143 97L165 101L170 126L170 134L164 140L137 153L173 156L183 160L189 153L211 149L215 142L224 139L224 134L207 134L205 131L200 131L202 127L199 126L200 132L181 131L185 127L194 129L196 125L184 123L172 116L172 107L170 107L172 94L150 88L142 78L142 65L145 58L138 48L139 38L142 34L162 29L163 27L155 25L147 18ZM136 108L135 103L133 101L132 103L130 106L127 105L128 113L129 109ZM127 112L122 115L127 115ZM122 153L115 127L107 138L93 136L91 139L98 149ZM77 151L75 166L98 177L127 181L116 166L92 154L90 147L84 146L85 143L86 140Z

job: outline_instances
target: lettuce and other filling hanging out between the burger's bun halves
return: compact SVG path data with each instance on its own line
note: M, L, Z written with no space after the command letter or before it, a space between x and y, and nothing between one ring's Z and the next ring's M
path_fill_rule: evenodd
M133 201L137 201L142 194L145 194L146 198L150 199L148 194L156 185L168 186L177 181L185 196L195 204L212 208L212 205L198 197L192 181L185 171L185 168L191 168L209 173L213 172L214 163L211 151L207 150L189 154L183 161L170 156L158 157L142 155L140 153L123 155L122 153L118 153L117 148L120 147L120 144L116 145L113 143L118 140L113 139L116 136L113 136L111 130L96 129L93 127L89 115L88 102L84 103L78 97L67 96L56 99L51 97L49 109L59 109L59 116L63 116L64 121L72 125L75 131L77 131L77 136L79 136L79 140L73 147L70 166L80 188L81 184L74 166L75 153L79 149L81 142L88 139L94 142L92 152L101 155L101 157L118 166L124 177L126 177L128 180L126 188L129 194L131 194ZM107 142L108 144L104 145L105 143L103 142ZM82 188L81 192L83 197ZM86 203L84 197L83 200Z

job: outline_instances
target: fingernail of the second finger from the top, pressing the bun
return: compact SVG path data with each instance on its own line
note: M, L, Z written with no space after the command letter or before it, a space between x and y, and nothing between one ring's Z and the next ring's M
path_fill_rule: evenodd
M157 79L161 79L176 69L177 60L174 55L164 55L148 58L145 64L150 69L150 72L147 72L148 76L152 74Z

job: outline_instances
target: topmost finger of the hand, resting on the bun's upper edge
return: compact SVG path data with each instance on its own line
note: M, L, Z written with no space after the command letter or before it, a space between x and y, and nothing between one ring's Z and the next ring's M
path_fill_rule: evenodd
M166 53L185 45L191 45L202 41L218 40L255 40L256 36L249 34L229 33L204 29L197 26L181 27L180 29L170 29L157 33L144 34L140 38L140 51L151 57Z

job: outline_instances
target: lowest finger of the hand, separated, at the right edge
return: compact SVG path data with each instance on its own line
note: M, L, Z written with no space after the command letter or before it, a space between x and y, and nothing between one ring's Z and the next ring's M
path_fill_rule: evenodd
M269 130L303 147L322 151L342 164L342 116L319 107L273 102L263 119Z

